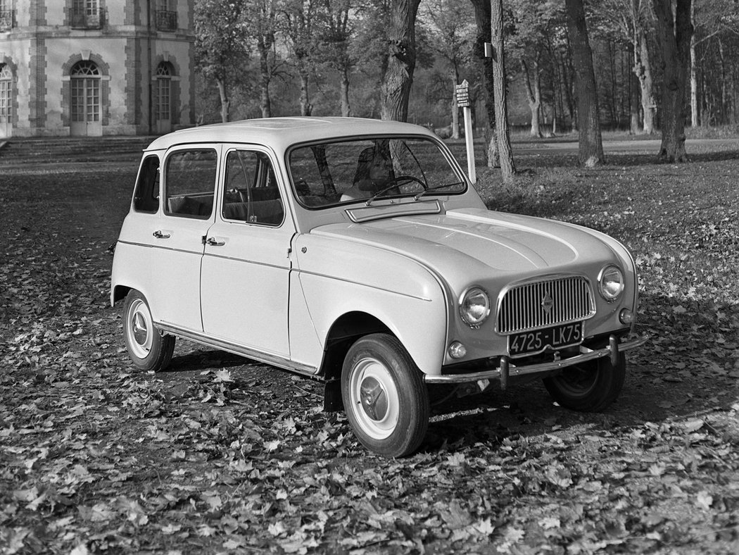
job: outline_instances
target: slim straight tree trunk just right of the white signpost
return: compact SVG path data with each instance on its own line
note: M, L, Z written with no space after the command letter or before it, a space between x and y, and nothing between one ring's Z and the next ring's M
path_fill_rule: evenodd
M495 98L495 138L500 152L500 170L503 182L510 183L516 175L516 166L508 132L508 104L505 84L505 52L503 50L503 0L490 2L490 38L493 45L493 94Z

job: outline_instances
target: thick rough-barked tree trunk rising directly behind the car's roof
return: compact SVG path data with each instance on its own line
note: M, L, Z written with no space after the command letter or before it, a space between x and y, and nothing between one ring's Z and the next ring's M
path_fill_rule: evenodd
M387 29L387 67L382 81L381 118L408 121L415 70L415 19L420 0L392 0Z

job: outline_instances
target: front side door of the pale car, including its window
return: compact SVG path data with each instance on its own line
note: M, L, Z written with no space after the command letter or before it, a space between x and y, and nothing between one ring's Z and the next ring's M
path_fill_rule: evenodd
M200 299L205 334L289 357L290 241L285 192L259 147L224 147L218 215L208 230Z

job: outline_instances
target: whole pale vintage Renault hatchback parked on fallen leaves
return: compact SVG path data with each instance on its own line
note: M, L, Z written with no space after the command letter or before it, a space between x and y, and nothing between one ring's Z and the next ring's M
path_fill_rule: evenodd
M185 129L143 152L115 249L133 363L175 337L325 383L367 448L412 453L429 386L542 377L600 411L621 391L637 277L616 240L491 212L423 127L270 118Z

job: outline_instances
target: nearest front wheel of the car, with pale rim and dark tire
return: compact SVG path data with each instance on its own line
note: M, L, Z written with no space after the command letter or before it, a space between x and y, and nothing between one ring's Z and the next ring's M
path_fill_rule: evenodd
M341 370L341 397L356 437L370 451L405 457L426 435L426 384L392 335L367 335L350 347Z

